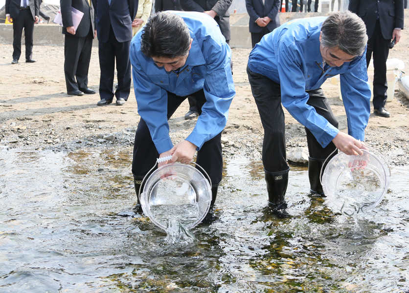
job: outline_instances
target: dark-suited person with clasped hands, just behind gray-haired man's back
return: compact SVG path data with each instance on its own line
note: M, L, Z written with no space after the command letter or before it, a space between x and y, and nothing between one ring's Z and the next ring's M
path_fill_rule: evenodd
M253 48L265 34L280 25L278 18L280 5L280 0L246 0L247 13L250 15L249 30Z

